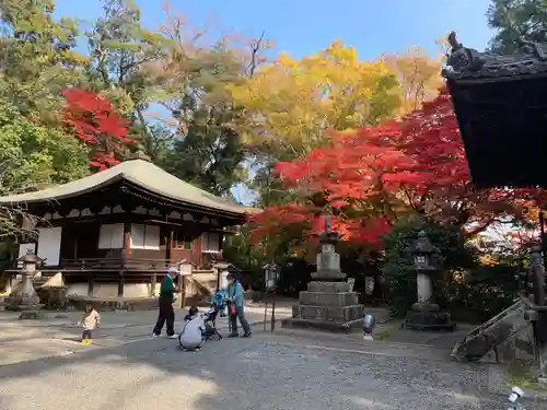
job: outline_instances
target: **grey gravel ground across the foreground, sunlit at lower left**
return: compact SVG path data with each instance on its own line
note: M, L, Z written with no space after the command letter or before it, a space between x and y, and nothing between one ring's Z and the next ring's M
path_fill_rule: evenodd
M319 344L257 333L190 353L154 339L0 366L0 409L507 408L488 393L488 366Z

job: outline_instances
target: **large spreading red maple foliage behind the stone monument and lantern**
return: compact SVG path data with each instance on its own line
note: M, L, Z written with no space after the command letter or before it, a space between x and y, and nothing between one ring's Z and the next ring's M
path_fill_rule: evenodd
M335 133L328 147L303 160L280 162L278 177L299 192L299 206L270 207L254 216L255 237L303 223L324 227L325 212L347 241L381 242L409 212L452 223L475 235L500 216L522 216L537 190L477 189L469 172L450 95L441 90L399 121ZM525 198L527 198L525 200Z

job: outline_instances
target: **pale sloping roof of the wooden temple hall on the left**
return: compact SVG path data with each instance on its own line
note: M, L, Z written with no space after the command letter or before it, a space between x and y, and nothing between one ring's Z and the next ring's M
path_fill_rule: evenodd
M199 189L141 159L125 161L112 168L68 184L57 185L35 192L0 197L0 203L36 203L73 198L120 180L127 180L150 192L187 204L235 214L255 211L254 208L237 204L229 199Z

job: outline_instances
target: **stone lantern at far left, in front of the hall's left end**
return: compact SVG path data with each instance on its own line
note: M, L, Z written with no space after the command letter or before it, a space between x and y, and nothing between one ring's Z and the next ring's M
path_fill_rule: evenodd
M39 303L32 279L36 274L36 266L40 265L44 259L28 249L25 255L19 258L19 261L23 263L22 281L10 295L7 308L23 312L24 314L20 318L38 318L39 309L44 305Z

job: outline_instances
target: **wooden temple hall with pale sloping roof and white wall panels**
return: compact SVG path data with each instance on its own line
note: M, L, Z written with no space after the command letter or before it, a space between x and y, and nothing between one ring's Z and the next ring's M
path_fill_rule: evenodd
M167 267L219 260L231 226L252 209L164 172L142 156L69 184L0 197L32 218L36 237L20 241L61 272L68 296L138 298L158 294ZM20 268L13 266L13 277Z

